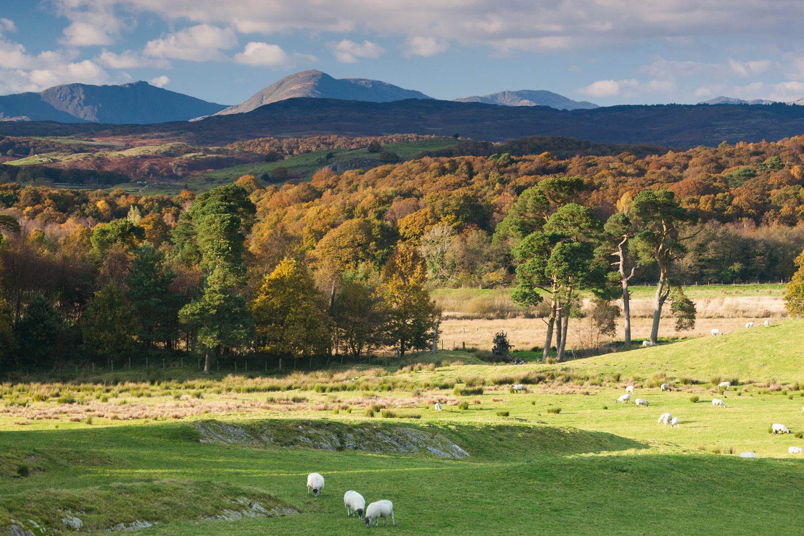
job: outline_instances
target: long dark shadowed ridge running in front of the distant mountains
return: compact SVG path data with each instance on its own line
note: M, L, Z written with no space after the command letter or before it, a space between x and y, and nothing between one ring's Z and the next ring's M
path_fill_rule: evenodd
M445 100L393 102L294 98L249 113L161 125L0 123L7 136L174 137L195 145L225 145L256 137L392 133L503 141L528 136L574 137L598 143L649 143L689 148L722 141L778 140L804 133L804 107L667 104L561 111L546 106L497 106Z

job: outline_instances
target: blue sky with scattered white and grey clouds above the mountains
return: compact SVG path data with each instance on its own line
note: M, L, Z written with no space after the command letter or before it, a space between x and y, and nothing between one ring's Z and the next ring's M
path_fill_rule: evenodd
M801 0L0 0L0 95L146 80L239 104L317 69L437 99L804 97Z

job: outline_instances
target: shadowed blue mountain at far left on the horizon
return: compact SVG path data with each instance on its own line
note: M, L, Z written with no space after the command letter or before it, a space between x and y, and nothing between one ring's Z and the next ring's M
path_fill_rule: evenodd
M30 121L147 124L187 121L224 108L147 82L96 86L65 84L39 93L0 96L0 117Z

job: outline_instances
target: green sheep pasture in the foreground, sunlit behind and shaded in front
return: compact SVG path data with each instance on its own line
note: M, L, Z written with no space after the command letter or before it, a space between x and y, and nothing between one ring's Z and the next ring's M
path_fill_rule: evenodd
M787 448L804 439L768 428L804 429L802 333L804 320L777 321L553 365L444 351L276 377L156 369L5 383L0 527L67 534L74 517L92 532L352 534L363 523L343 493L356 489L394 502L396 527L372 529L384 533L751 534L773 519L797 534L804 460ZM721 379L736 386L721 395ZM650 407L615 403L626 385ZM656 422L664 411L679 428ZM470 456L400 452L409 434ZM306 494L311 471L326 477L318 498ZM248 517L255 503L277 517Z

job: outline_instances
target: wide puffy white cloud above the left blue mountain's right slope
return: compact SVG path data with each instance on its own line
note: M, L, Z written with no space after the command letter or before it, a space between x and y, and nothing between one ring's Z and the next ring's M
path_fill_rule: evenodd
M144 53L154 58L223 61L221 50L236 46L237 36L232 29L199 24L149 41Z

